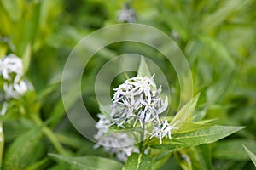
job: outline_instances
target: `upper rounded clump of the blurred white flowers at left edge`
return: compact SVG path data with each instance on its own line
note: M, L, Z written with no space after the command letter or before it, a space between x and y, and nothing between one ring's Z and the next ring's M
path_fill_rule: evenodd
M23 75L22 61L15 54L9 54L0 60L0 75L5 80L10 81L10 74L15 73L14 82L19 82L20 77Z

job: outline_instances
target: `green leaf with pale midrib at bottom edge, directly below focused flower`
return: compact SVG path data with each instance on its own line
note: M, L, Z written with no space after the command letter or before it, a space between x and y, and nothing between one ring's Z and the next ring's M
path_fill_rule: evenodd
M133 153L128 157L123 170L149 170L152 169L152 165L153 163L151 157L143 154Z

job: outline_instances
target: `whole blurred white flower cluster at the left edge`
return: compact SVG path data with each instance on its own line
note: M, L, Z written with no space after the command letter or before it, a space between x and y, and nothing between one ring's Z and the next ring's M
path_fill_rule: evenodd
M7 110L7 100L19 99L20 96L26 94L32 85L21 80L23 76L23 64L19 57L15 54L9 54L0 59L0 80L3 80L3 94L0 100L4 101L2 105L1 115L3 116ZM1 92L0 92L1 93Z

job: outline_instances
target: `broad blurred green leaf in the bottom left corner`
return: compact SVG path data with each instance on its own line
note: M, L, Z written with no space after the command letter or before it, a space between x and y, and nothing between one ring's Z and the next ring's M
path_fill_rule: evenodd
M36 149L42 137L42 127L34 127L32 130L20 135L7 150L4 167L24 169L37 158ZM39 145L40 146L40 145ZM44 147L40 147L44 149Z

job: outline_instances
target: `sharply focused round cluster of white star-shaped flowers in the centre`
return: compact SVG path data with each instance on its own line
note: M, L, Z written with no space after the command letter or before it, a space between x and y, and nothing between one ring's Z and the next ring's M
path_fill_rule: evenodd
M110 116L113 123L124 127L125 122L137 122L143 127L148 122L160 122L159 114L166 110L168 99L160 98L161 87L156 88L153 77L132 77L114 88Z

